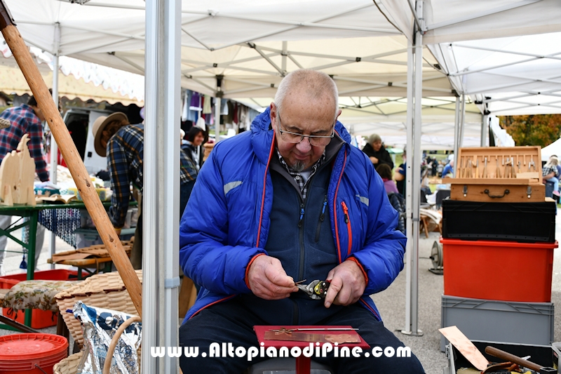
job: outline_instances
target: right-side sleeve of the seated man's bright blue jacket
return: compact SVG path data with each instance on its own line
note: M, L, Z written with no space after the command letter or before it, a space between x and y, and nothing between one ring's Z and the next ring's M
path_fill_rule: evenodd
M396 230L398 213L388 200L381 178L374 168L367 168L367 175L370 178L367 235L363 248L353 256L368 276L364 294L372 295L388 288L403 269L407 239Z

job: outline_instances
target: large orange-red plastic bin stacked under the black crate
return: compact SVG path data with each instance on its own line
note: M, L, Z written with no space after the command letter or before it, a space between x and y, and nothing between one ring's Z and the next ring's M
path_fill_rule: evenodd
M558 243L440 239L444 294L459 298L550 302Z

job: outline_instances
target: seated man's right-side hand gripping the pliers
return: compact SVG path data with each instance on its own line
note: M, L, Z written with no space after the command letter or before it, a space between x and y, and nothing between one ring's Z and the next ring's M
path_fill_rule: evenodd
M366 288L366 280L357 263L351 260L342 262L327 274L331 281L325 296L326 308L334 305L351 305L358 301Z

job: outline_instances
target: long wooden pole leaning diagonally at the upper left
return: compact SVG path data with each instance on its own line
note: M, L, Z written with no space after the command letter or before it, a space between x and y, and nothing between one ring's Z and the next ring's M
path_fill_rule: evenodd
M68 133L65 122L62 121L58 112L58 105L53 101L53 97L50 95L43 77L39 73L39 69L37 69L34 60L29 54L29 48L25 45L20 32L18 32L18 28L15 27L15 23L4 0L0 0L0 29L4 35L4 40L6 40L13 53L15 61L18 62L25 76L27 84L29 84L29 88L31 88L37 100L41 112L43 112L43 116L45 116L58 148L62 152L62 157L65 158L72 178L76 182L76 187L82 196L83 203L86 205L86 209L88 209L95 227L97 227L97 232L99 232L105 248L107 248L109 255L111 255L111 260L113 260L115 267L121 274L123 283L125 283L139 316L142 316L142 285L140 280L135 273L135 269L133 269L133 265L130 264L119 236L116 234L109 216L100 201L100 197L97 195L95 186L90 180L90 175L86 171L86 166L83 165L81 156Z

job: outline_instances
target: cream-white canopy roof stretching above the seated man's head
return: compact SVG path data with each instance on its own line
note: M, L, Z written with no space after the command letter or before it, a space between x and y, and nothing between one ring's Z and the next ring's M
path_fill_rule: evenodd
M8 5L28 44L53 53L58 24L60 55L144 74L144 1L73 2L83 5L57 0L8 0ZM337 82L346 108L344 123L361 123L366 133L387 123L399 126L407 105L407 39L387 22L379 6L371 0L346 1L343 6L335 0L184 0L181 84L267 106L286 72L320 69ZM453 136L455 93L445 74L433 67L437 62L430 53L424 60L423 96L432 100L423 113L433 115L431 123L450 124L443 126L447 133L424 134L435 139L426 146L441 149ZM478 109L472 105L466 110L466 120L478 126Z

